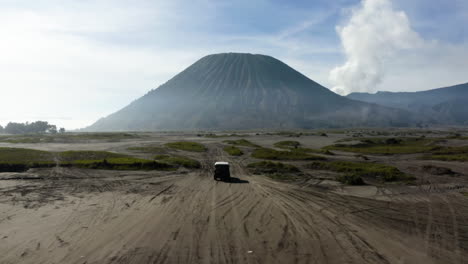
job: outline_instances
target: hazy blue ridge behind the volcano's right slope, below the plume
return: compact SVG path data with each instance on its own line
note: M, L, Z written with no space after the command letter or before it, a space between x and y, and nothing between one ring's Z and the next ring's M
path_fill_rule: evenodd
M435 124L468 124L468 83L421 92L351 93L347 97L411 111Z

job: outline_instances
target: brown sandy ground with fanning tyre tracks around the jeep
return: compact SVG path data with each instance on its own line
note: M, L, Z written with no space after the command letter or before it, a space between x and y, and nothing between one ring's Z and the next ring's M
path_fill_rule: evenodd
M56 168L2 181L0 263L466 263L458 196L346 196L203 155L186 174ZM232 182L212 179L215 160L231 161ZM34 192L51 201L25 203Z

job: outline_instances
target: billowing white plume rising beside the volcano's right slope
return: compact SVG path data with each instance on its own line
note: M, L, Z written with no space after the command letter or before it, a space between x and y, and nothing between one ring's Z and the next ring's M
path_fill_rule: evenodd
M422 45L404 12L390 0L363 0L343 27L337 27L346 62L330 72L333 90L340 94L373 92L385 76L386 63L405 49Z

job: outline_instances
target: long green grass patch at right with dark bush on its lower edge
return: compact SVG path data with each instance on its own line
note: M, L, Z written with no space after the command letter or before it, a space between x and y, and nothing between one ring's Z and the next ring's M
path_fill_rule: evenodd
M395 167L369 162L313 162L307 165L308 168L317 170L330 170L343 173L337 180L346 184L364 184L360 178L377 179L382 182L411 181L414 177L407 175Z

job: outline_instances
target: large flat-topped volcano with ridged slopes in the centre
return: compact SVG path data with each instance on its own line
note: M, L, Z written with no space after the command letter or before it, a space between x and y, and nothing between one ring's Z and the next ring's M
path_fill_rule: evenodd
M337 95L265 55L203 57L88 131L406 126L406 111Z

